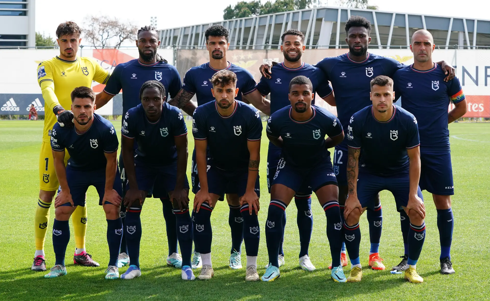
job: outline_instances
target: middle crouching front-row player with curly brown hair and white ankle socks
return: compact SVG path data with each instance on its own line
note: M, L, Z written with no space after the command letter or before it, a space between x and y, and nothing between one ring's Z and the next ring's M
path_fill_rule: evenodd
M226 193L233 204L240 206L247 258L245 280L257 281L262 121L259 111L235 100L239 88L234 72L218 71L211 77L211 83L216 100L196 109L192 128L200 181L193 211L194 241L202 258L202 270L197 278L210 279L214 275L211 213L216 201Z

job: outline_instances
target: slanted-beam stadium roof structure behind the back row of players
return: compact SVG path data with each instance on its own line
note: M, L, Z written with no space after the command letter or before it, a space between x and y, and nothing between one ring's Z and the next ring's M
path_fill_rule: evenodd
M343 28L351 15L371 22L371 47L406 48L412 34L423 28L440 48L490 48L490 20L324 6L160 29L159 34L162 47L200 49L205 46L204 31L221 24L230 31L230 49L273 49L279 48L281 34L294 28L305 33L310 49L342 48L347 47Z

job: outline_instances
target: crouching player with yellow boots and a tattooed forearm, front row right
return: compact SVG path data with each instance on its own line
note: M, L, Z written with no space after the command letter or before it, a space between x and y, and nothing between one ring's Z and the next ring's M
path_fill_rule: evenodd
M349 194L345 201L344 241L352 265L347 281L361 281L363 275L359 261L359 218L366 208L373 209L375 195L389 190L395 198L396 209L405 210L410 219L405 279L420 283L423 279L416 272L416 264L425 239L425 207L418 187L417 119L393 106L393 81L388 76L380 75L371 80L370 94L372 105L355 113L347 128Z

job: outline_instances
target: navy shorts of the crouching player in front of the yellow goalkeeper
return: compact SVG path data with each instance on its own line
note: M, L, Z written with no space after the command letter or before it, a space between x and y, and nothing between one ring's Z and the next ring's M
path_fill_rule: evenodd
M74 206L85 206L85 193L89 186L94 186L98 193L98 205L102 204L105 190L105 167L97 170L73 170L70 165L66 166L66 180L68 187L70 187L70 194L72 195ZM114 185L112 186L120 196L123 196L123 185L121 184L121 175L119 170L116 172L114 178ZM58 189L59 193L59 189ZM105 202L105 204L111 204ZM72 206L70 203L65 203L61 206Z

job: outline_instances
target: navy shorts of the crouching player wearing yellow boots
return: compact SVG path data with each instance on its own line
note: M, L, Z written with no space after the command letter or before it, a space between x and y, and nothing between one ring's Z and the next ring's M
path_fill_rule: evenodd
M380 177L377 175L359 172L357 180L357 198L363 208L374 210L376 195L382 190L389 190L396 203L396 210L401 212L407 207L410 192L410 178L408 172L399 175ZM422 191L417 188L417 195L422 199Z

